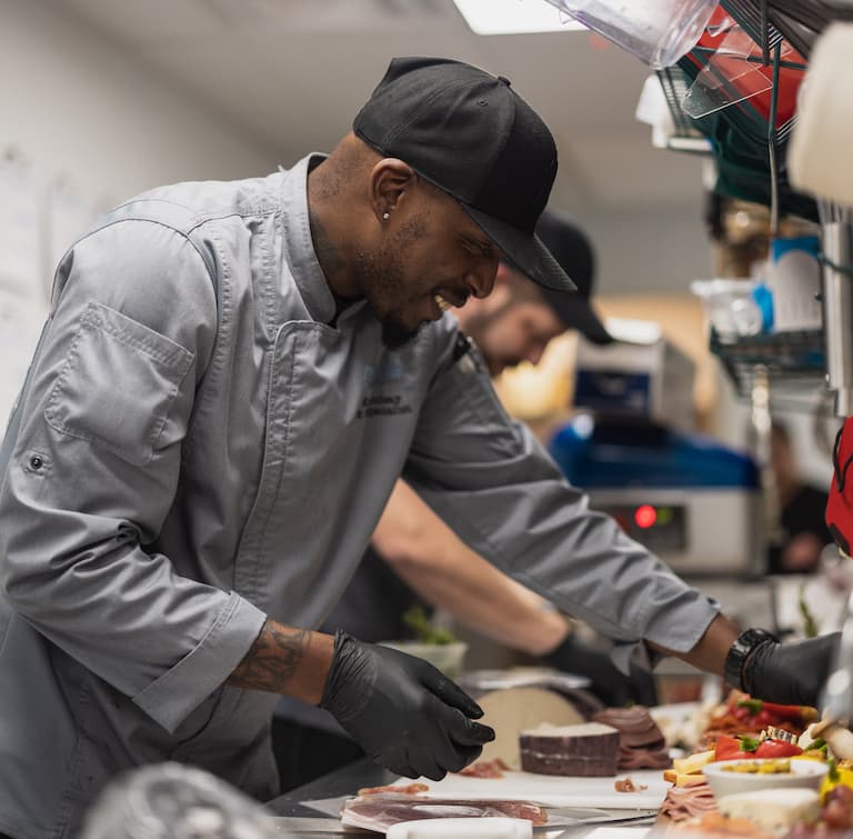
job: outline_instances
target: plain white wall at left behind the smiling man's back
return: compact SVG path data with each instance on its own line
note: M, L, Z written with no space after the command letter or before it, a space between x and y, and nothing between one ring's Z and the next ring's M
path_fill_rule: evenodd
M21 173L13 190L10 160ZM61 2L0 0L0 429L43 321L58 252L94 216L160 183L264 174L277 162L274 150L91 32ZM16 218L26 219L26 236Z

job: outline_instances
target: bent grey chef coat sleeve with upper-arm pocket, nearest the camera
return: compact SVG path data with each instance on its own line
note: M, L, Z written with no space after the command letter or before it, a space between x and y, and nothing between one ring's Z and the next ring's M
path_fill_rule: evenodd
M264 616L175 572L154 542L213 350L204 259L124 220L64 257L0 491L0 583L46 638L174 730Z

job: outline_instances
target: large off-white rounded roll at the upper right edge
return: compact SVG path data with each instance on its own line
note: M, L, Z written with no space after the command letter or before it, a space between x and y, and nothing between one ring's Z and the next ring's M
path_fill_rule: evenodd
M815 41L787 166L796 189L853 207L851 56L853 23L833 23Z

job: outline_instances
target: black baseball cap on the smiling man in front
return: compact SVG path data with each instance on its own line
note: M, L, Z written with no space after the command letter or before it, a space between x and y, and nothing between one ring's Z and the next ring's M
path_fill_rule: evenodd
M455 198L532 280L574 289L534 232L556 176L556 146L508 79L451 59L395 58L352 129Z

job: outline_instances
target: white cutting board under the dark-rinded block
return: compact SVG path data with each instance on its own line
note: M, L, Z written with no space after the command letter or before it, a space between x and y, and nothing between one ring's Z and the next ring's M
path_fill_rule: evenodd
M640 792L616 792L616 780L631 778L646 789ZM428 798L494 799L509 798L535 801L550 807L602 807L613 810L655 810L672 786L663 780L662 769L638 769L610 778L573 778L533 772L504 772L503 778L471 778L448 773L441 781L429 778L400 778L397 783L425 783Z

